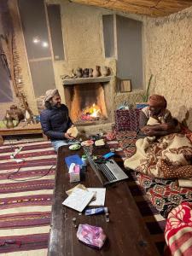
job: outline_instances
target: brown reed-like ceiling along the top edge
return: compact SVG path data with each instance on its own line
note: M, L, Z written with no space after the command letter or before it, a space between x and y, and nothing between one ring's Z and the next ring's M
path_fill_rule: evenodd
M160 17L192 6L192 0L69 0L137 15Z

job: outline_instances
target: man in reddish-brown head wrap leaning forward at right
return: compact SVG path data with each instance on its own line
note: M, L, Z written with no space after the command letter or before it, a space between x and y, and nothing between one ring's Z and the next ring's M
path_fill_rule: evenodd
M148 125L150 117L157 120L156 125ZM165 97L160 95L149 97L148 107L140 112L139 126L145 136L161 136L178 131L177 120L172 118L171 112L166 109Z

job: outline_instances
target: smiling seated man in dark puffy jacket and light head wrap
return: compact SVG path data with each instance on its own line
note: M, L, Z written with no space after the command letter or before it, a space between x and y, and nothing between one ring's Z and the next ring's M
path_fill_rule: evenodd
M66 105L61 104L58 90L47 90L44 98L45 109L40 114L40 121L44 134L50 138L55 151L67 145L67 139L73 139L67 134L73 125Z

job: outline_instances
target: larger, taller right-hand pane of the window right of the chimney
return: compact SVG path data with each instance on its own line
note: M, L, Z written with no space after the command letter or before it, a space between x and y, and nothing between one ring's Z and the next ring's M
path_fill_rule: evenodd
M117 15L117 76L143 88L142 22Z

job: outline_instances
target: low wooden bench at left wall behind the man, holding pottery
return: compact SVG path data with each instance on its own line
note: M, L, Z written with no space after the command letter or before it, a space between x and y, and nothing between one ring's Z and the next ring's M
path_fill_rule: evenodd
M42 134L42 136L44 137L41 124L38 123L38 124L27 125L26 123L20 122L20 124L15 128L0 129L0 142L3 143L3 136L28 135L28 134Z

